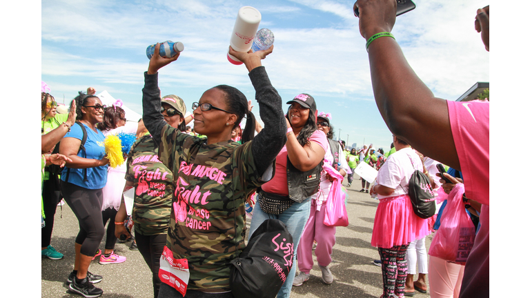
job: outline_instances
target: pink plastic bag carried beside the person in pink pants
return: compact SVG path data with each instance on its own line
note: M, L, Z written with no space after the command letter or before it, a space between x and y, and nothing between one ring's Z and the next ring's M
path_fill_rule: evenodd
M326 163L324 163L324 170L333 178L324 212L324 224L326 226L348 226L348 212L346 212L346 204L344 203L346 194L342 192L341 187L344 177Z

